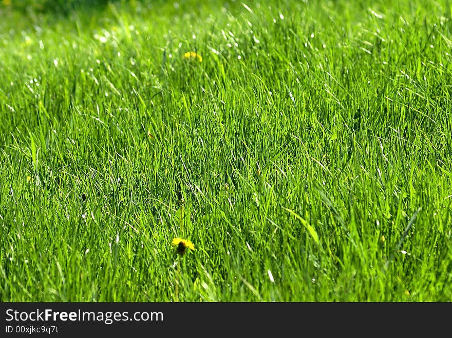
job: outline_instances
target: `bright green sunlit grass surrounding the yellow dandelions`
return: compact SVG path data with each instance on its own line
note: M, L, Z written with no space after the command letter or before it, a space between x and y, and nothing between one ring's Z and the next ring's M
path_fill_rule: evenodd
M1 301L172 302L173 237L183 302L452 300L452 3L64 3L0 5Z

